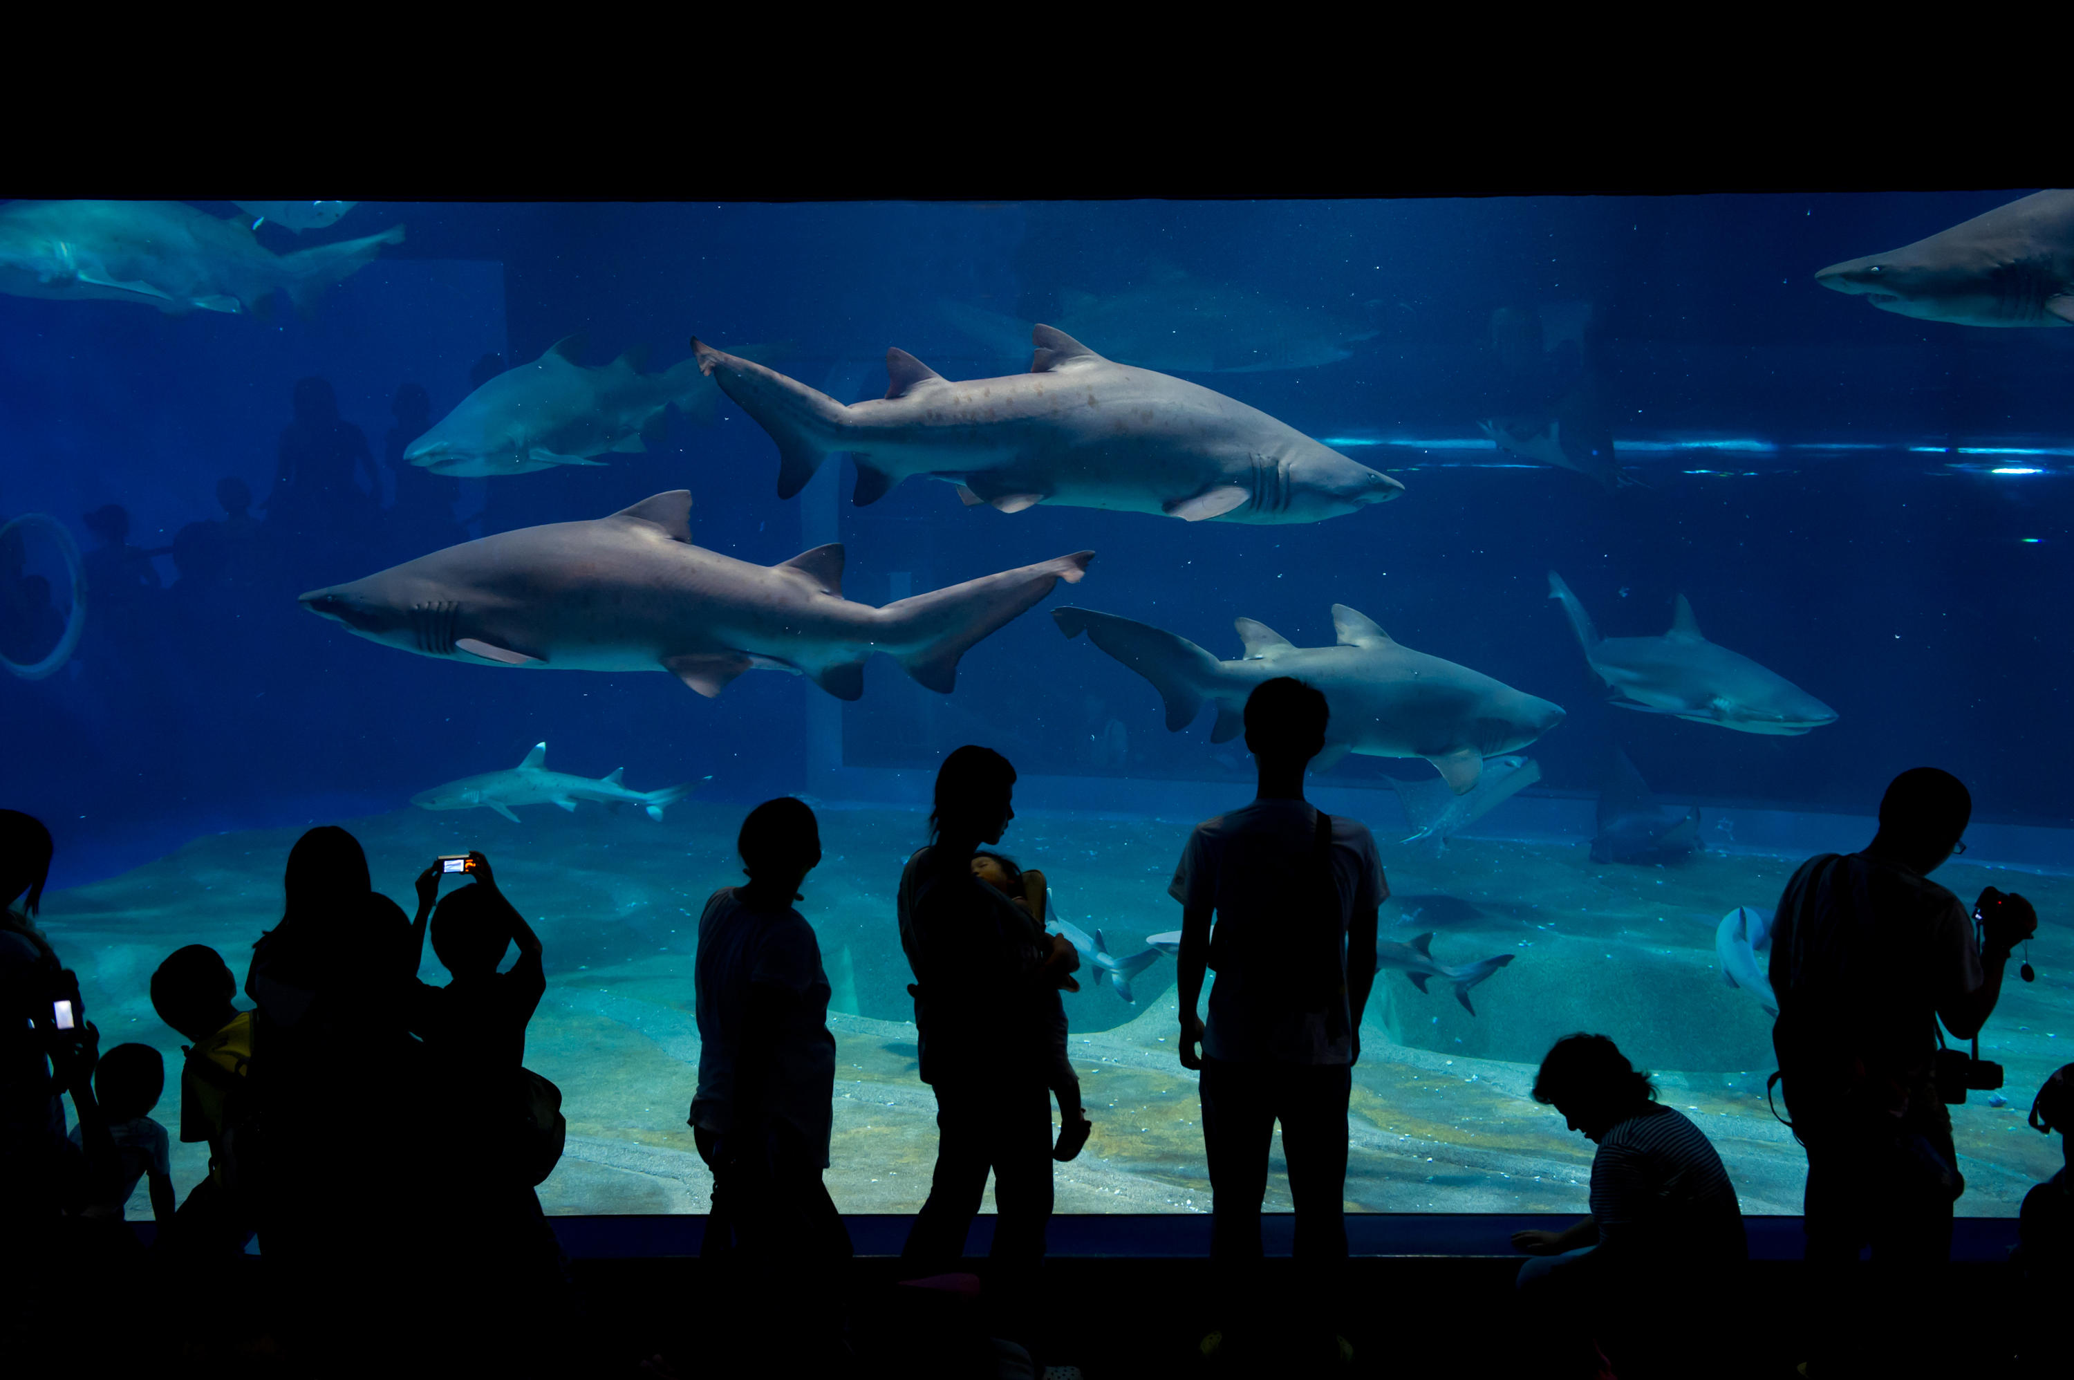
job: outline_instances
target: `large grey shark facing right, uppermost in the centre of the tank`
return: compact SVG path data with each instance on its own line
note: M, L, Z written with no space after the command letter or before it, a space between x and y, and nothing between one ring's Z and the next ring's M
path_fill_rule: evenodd
M838 450L857 461L859 506L910 475L1002 513L1054 502L1190 523L1315 523L1404 492L1222 392L1112 363L1049 326L1031 334L1029 374L962 384L888 351L886 396L850 407L697 338L691 349L778 442L780 498Z

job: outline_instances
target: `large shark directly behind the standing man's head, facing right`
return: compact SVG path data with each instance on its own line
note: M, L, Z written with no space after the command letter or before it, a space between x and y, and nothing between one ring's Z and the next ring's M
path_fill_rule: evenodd
M1332 722L1325 751L1311 770L1323 772L1346 753L1367 757L1425 757L1456 795L1483 778L1483 760L1526 747L1562 722L1562 708L1535 699L1481 670L1412 652L1346 604L1332 606L1334 647L1298 647L1273 629L1238 618L1246 654L1220 662L1186 637L1099 614L1091 608L1056 608L1052 620L1066 637L1083 631L1089 641L1153 683L1166 701L1166 724L1180 733L1203 710L1217 706L1211 743L1226 743L1244 728L1246 695L1261 681L1296 677L1325 693Z

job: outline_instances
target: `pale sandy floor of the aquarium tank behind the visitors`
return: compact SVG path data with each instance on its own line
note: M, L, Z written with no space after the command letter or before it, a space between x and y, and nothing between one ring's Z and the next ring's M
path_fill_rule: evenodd
M1234 803L1238 797L1234 795ZM375 884L409 905L411 880L438 853L483 849L545 942L548 996L527 1036L527 1065L564 1094L568 1150L541 1185L554 1214L703 1212L711 1179L684 1112L697 1081L693 1019L697 915L738 880L738 807L686 801L664 824L639 811L533 807L523 824L489 811L398 811L344 822L367 847ZM894 926L900 859L921 840L913 811L821 807L823 865L801 911L813 921L834 988L838 1038L830 1191L844 1212L913 1212L935 1154L935 1102L917 1079L910 979ZM1166 882L1186 822L1018 816L1006 851L1041 865L1060 913L1112 953L1174 930ZM153 1116L178 1127L180 1042L151 1013L151 969L180 944L212 944L243 979L251 942L280 917L280 874L301 830L199 838L118 878L46 896L44 928L81 977L102 1048L143 1042L166 1056ZM1529 1098L1547 1046L1574 1029L1611 1036L1657 1073L1663 1102L1713 1139L1744 1212L1800 1210L1804 1158L1765 1106L1769 1017L1723 984L1713 928L1738 907L1769 909L1796 859L1707 853L1676 865L1601 865L1585 845L1466 840L1383 843L1392 901L1383 938L1433 932L1448 965L1510 953L1475 988L1477 1015L1450 988L1417 992L1381 973L1354 1069L1346 1206L1367 1212L1578 1212L1591 1143ZM1945 865L1937 880L1970 899L1993 882L2028 894L2043 917L1983 1036L2008 1067L2006 1102L1974 1094L1954 1108L1966 1195L1960 1212L2012 1216L2030 1183L2062 1164L2059 1146L2024 1125L2039 1083L2074 1058L2074 882ZM2012 965L2014 967L2014 965ZM446 982L425 953L423 977ZM1195 1075L1174 1058L1174 965L1134 982L1134 1004L1108 984L1066 996L1072 1054L1095 1131L1056 1170L1060 1212L1207 1212L1209 1183ZM2070 1036L2070 1046L2059 1036ZM367 1152L384 1154L369 1129ZM1280 1158L1280 1156L1278 1156ZM174 1146L185 1193L205 1146ZM1278 1164L1280 1168L1280 1164ZM1276 1179L1269 1210L1288 1210ZM991 1208L991 1202L989 1202ZM133 1218L149 1216L143 1185Z

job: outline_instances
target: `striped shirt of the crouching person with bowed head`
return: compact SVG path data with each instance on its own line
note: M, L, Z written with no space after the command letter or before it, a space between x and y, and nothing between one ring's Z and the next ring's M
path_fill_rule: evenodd
M1599 1137L1591 1216L1601 1245L1742 1258L1742 1208L1721 1156L1684 1112L1647 1104Z

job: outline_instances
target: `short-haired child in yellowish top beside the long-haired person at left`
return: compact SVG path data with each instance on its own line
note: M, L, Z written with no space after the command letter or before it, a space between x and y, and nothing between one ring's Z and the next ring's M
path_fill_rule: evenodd
M189 1191L174 1218L185 1247L241 1251L253 1208L234 1127L243 1123L253 1062L253 1013L232 1004L239 979L207 944L174 948L151 973L151 1009L193 1044L180 1046L180 1139L209 1143L209 1177ZM166 1218L160 1218L164 1222Z

